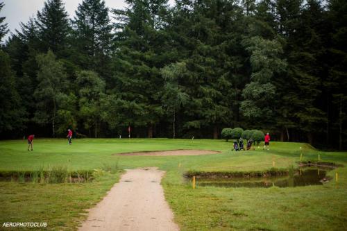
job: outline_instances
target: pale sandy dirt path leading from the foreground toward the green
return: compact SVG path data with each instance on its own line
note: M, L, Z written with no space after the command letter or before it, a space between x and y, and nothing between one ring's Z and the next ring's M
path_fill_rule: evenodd
M160 185L163 175L156 168L127 170L78 230L179 230Z

